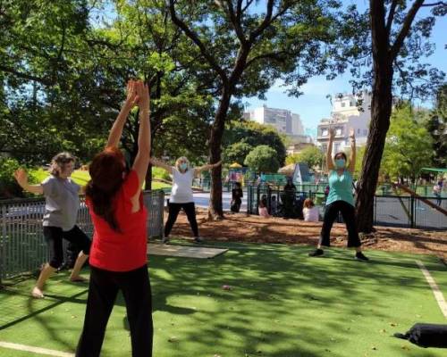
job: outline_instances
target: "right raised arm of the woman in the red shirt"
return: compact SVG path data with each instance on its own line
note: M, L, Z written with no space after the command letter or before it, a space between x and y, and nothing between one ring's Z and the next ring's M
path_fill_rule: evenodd
M141 187L146 178L150 160L149 88L142 81L136 82L135 87L139 105L139 151L133 162L132 170L137 172Z

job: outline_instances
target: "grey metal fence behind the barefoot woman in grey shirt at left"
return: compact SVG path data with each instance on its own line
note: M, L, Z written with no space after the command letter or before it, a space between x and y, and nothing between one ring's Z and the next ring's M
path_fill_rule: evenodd
M148 237L163 237L164 191L144 192L148 208ZM34 271L49 258L43 237L44 198L0 201L0 282ZM93 237L93 224L84 197L80 199L77 225Z

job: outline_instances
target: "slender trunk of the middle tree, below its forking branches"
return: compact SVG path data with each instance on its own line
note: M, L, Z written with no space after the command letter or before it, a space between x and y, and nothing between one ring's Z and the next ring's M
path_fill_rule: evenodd
M225 128L225 118L230 107L231 95L228 88L223 88L221 100L217 112L215 112L215 122L211 129L209 139L210 163L219 162L222 154L222 137ZM211 193L209 195L208 218L210 220L223 218L222 207L222 165L211 170Z

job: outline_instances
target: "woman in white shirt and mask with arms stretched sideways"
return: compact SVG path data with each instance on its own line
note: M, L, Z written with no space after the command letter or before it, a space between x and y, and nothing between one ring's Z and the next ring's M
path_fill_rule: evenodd
M210 170L221 164L221 162L216 162L215 164L209 164L204 166L199 166L196 168L190 167L190 162L184 156L181 156L175 162L175 166L170 166L161 160L152 158L150 160L153 165L163 168L168 171L173 177L173 188L171 190L171 196L169 198L169 215L164 226L164 238L163 243L169 241L169 234L173 228L175 220L181 209L186 213L188 220L190 221L190 226L192 233L194 234L194 242L201 243L203 239L198 236L198 224L196 220L196 207L192 197L192 179L197 172L202 170Z

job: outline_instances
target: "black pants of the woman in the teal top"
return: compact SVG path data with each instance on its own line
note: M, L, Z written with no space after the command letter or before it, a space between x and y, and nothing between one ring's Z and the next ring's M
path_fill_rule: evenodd
M348 229L348 246L360 246L361 243L358 238L355 209L350 203L344 201L335 201L326 206L323 228L321 228L320 234L320 245L331 245L329 239L331 228L333 228L333 221L338 217L339 212L342 213L343 220L346 223L346 229Z

